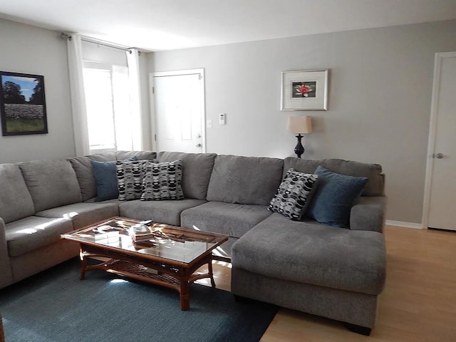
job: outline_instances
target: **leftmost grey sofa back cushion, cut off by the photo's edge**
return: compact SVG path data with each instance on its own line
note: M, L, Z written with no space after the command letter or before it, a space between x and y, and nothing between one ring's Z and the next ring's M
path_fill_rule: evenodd
M0 217L5 223L35 213L21 169L16 164L0 165Z

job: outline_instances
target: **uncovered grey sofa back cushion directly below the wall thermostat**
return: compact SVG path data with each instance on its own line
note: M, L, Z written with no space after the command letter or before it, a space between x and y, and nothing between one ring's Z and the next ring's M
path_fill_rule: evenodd
M284 161L269 157L217 155L208 201L269 205L282 180Z

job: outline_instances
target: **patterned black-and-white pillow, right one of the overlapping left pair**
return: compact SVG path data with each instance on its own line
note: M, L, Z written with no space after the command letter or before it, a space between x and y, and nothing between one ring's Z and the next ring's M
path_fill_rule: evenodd
M182 159L174 162L145 162L142 177L142 201L184 199Z

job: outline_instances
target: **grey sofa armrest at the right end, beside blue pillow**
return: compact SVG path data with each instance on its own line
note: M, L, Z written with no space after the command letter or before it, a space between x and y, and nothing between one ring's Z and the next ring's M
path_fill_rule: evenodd
M385 196L361 196L359 202L351 208L350 229L383 233L386 203Z

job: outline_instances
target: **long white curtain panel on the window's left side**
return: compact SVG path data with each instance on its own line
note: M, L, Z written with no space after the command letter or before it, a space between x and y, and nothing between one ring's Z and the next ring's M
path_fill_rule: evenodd
M81 36L72 34L66 42L68 47L68 68L70 73L74 141L76 146L76 156L81 157L90 153L86 114L86 95L84 93Z

